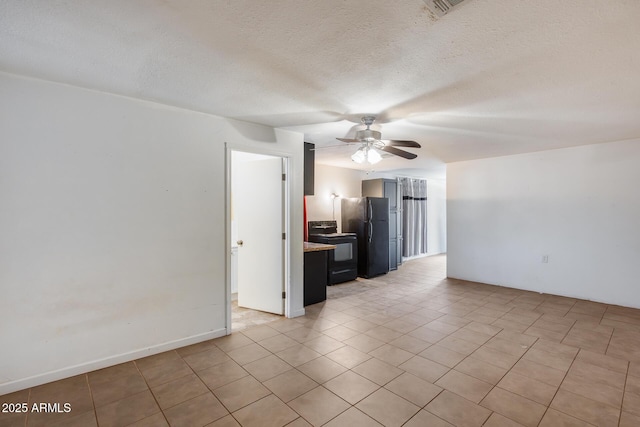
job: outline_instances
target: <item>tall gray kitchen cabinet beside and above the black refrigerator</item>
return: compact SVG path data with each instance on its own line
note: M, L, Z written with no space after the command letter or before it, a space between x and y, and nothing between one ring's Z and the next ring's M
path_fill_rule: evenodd
M389 270L402 264L402 191L395 179L378 178L362 181L363 197L389 199Z

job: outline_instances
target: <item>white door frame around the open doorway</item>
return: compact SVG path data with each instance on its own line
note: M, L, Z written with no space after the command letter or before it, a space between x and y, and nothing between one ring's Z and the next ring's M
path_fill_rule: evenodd
M263 154L280 157L283 160L284 192L282 197L282 229L285 233L283 253L283 279L284 279L284 315L290 317L291 313L291 221L290 221L290 194L291 194L291 156L289 153L269 148L258 148L249 145L225 142L225 293L226 293L226 333L231 334L231 154L233 151Z

